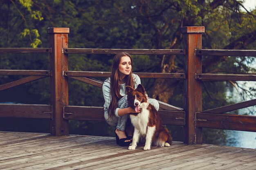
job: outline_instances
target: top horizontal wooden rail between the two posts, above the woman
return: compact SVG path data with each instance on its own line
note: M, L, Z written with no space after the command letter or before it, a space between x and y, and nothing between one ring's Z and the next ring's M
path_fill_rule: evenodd
M73 49L63 48L67 54L141 54L141 55L184 55L184 49Z

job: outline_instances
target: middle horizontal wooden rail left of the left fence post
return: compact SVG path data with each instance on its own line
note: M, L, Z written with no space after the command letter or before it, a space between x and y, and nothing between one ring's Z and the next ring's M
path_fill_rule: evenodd
M0 75L52 75L50 70L0 70Z

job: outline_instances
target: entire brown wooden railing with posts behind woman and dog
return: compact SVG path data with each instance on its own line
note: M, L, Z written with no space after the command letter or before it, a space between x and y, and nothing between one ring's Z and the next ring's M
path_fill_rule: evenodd
M181 79L184 81L184 109L159 101L164 124L184 126L186 144L202 144L202 128L256 132L256 116L228 115L228 111L256 105L256 99L202 110L203 80L256 81L256 75L204 74L202 55L256 56L255 50L202 49L203 26L183 27L184 49L73 49L68 48L68 28L49 28L50 48L0 48L0 53L49 53L50 70L0 70L0 75L29 77L0 85L0 91L37 79L50 77L50 105L0 104L0 117L42 118L51 120L51 134L68 135L69 120L105 121L103 107L69 106L68 79L76 79L101 88L94 77L108 77L110 72L68 71L68 54L179 55L184 57L184 73L136 73L141 78Z

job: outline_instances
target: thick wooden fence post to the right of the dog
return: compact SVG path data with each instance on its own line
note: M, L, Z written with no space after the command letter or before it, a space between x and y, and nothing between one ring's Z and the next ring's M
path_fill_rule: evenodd
M184 110L186 115L186 144L202 144L202 128L196 127L195 113L202 111L202 82L195 79L195 73L202 73L202 57L195 55L195 49L202 49L204 26L182 27L184 33Z

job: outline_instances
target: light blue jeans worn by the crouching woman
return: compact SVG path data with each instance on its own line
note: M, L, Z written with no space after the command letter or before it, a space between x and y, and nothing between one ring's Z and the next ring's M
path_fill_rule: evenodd
M156 99L148 99L148 102L150 104L152 104L156 108L156 110L159 109L159 103L157 102ZM124 97L119 99L117 107L118 108L127 108L128 107L127 95L125 95ZM116 127L118 130L121 130L121 131L124 131L126 126L132 126L130 124L130 121L127 121L128 119L130 119L129 114L126 114L121 117L115 117L115 116L109 117L108 110L104 110L104 117L110 126Z

